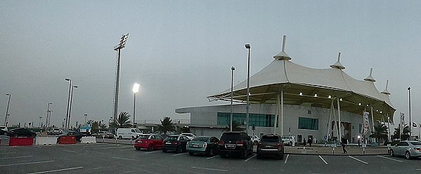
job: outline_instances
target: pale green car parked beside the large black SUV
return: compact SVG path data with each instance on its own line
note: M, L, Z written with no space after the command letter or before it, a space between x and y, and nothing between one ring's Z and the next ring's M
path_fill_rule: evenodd
M219 139L216 137L200 136L187 142L186 150L188 154L207 154L214 156L218 152Z

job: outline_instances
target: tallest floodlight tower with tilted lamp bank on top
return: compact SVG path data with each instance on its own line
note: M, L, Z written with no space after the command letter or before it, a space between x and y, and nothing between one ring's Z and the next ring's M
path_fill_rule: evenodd
M120 51L126 46L127 37L129 34L123 34L120 39L120 43L114 47L114 51L117 51L117 72L115 74L115 89L114 89L114 119L117 119L118 109L118 91L119 91L119 76L120 76Z

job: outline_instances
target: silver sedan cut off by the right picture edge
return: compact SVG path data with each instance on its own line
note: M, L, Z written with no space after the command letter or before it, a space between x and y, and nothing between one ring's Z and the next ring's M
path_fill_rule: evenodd
M406 159L421 157L421 142L401 141L390 147L391 156L405 156Z

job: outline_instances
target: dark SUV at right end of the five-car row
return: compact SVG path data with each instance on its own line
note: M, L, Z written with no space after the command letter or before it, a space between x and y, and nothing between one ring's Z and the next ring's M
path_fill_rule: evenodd
M279 135L263 135L257 144L257 159L262 156L277 156L283 159L284 145Z

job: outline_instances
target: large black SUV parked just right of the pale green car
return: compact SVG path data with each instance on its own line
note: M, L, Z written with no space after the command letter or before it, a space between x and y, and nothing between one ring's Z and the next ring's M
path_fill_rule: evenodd
M226 132L222 133L218 150L221 158L239 155L242 159L247 159L247 155L253 153L253 142L245 132Z

